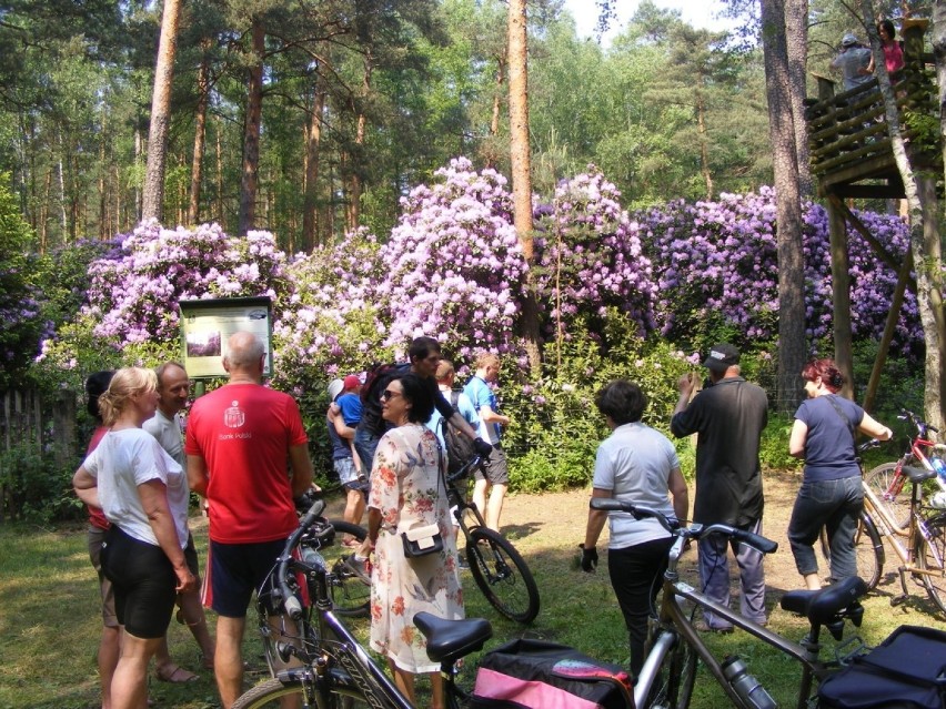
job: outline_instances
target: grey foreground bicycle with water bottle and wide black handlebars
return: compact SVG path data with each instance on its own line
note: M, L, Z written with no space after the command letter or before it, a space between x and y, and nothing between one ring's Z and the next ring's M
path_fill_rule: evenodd
M841 640L845 620L849 619L855 626L861 625L864 609L858 598L867 592L867 586L861 578L852 577L821 590L787 591L782 597L782 608L805 616L811 625L805 638L801 642L794 642L712 600L682 580L677 571L680 557L691 539L698 540L708 535L722 534L739 544L747 544L762 554L774 553L778 548L777 543L723 524L693 524L681 527L657 510L612 498L594 498L591 506L594 509L627 513L636 519L653 517L674 536L663 577L663 596L651 628L648 652L634 686L635 707L686 709L690 706L700 661L733 706L739 709L775 706L765 688L746 672L742 660L727 658L721 662L714 657L693 626L696 608L712 610L733 626L797 660L802 665L799 709L808 706L814 683L842 667L839 659L819 658L821 631L827 628L835 639ZM692 605L688 614L684 602ZM863 644L859 648L854 650L854 654L861 654Z

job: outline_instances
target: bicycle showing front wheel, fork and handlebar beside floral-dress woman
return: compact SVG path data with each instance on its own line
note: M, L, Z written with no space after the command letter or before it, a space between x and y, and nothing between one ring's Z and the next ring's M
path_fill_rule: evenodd
M510 620L530 624L539 615L540 607L539 587L532 571L515 547L486 526L476 505L467 502L456 485L480 463L480 456L473 456L446 478L447 499L466 541L466 563L473 580L493 608Z

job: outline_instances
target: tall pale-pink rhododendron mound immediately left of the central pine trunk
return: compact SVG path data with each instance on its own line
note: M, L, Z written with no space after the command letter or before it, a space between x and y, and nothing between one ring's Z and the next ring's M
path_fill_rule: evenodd
M506 179L451 161L402 199L403 216L380 253L390 344L430 334L467 356L517 351L513 332L526 264L512 224Z

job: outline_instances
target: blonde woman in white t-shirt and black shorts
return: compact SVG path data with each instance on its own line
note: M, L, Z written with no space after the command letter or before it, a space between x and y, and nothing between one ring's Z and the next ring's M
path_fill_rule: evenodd
M141 428L158 408L152 369L115 372L98 398L108 432L72 477L79 498L111 526L101 544L124 630L112 675L111 709L145 703L148 661L158 651L179 591L194 590L188 568L188 479L158 439Z

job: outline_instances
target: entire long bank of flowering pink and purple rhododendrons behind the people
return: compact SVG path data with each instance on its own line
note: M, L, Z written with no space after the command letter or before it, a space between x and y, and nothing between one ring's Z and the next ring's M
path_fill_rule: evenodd
M772 190L633 214L620 196L590 169L563 181L550 202L536 199L532 275L549 341L580 337L606 352L608 323L620 318L622 331L642 340L653 333L690 356L721 334L771 350L778 315ZM505 178L459 158L402 207L384 240L359 231L295 257L266 232L238 239L213 224L143 224L121 239L120 251L92 263L85 305L43 344L40 364L53 376L88 373L109 358L154 364L178 356L180 300L251 295L273 298L274 384L299 396L321 396L339 374L403 357L420 334L439 337L460 365L480 347L521 358L515 324L529 266ZM814 204L804 213L815 343L831 333L827 215ZM900 220L859 217L895 257L903 254ZM858 234L851 235L851 264L855 337L876 340L895 273ZM898 338L922 343L919 333L908 294Z

